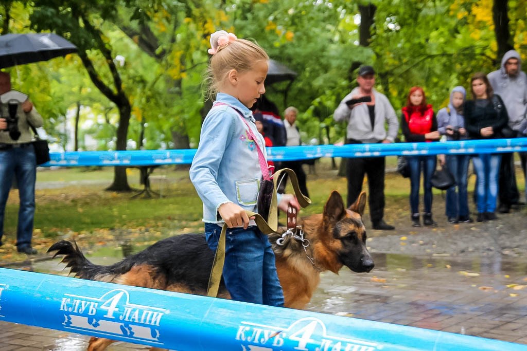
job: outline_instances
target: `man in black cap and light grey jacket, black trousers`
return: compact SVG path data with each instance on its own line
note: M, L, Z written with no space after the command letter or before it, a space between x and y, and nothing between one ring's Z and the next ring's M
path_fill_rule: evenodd
M372 66L361 66L357 76L358 87L346 95L333 113L336 122L348 123L346 144L393 143L399 121L388 98L377 92L375 71ZM385 122L388 123L386 131ZM385 157L353 157L347 159L348 206L362 191L364 175L368 175L369 212L373 229L393 230L384 222Z

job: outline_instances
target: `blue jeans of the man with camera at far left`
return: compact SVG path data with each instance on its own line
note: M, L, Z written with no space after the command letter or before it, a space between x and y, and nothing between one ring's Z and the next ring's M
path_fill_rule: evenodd
M33 145L0 151L0 242L4 234L4 213L9 189L16 177L20 207L16 228L18 249L31 246L33 237L33 217L35 215L36 164Z

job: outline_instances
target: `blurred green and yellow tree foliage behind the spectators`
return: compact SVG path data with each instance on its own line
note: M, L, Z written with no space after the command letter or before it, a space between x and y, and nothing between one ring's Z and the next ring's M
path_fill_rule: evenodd
M508 49L525 57L526 12L523 0L4 0L0 34L51 31L79 47L6 69L60 149L196 147L211 106L209 37L219 29L298 73L266 95L280 111L300 110L305 143L326 144L344 135L332 114L360 64L375 67L396 111L414 85L437 111Z

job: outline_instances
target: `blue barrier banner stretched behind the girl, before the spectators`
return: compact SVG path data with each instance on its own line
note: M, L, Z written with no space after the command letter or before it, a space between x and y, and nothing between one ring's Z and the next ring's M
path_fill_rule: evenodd
M460 155L527 152L527 138L449 141L442 143L390 143L268 147L271 161L319 157L376 157L394 155ZM49 166L155 166L191 164L196 149L142 151L79 151L51 153Z

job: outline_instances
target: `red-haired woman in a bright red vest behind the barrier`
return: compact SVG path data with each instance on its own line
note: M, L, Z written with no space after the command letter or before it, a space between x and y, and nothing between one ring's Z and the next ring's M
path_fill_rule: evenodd
M406 106L403 107L401 116L401 128L406 142L430 142L440 138L437 131L437 120L432 105L426 104L423 88L414 86L408 94ZM423 171L424 225L437 225L432 219L432 175L435 171L436 157L411 156L408 157L410 166L410 207L412 210L412 226L420 227L419 222L419 183L421 182L421 171Z

